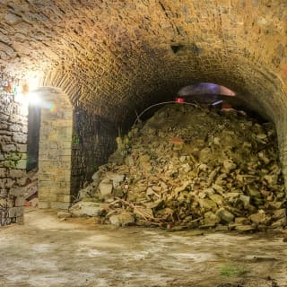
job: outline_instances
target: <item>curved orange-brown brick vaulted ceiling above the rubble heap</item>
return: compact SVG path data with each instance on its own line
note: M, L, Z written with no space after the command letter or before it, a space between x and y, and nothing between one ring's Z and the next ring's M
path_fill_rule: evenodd
M117 121L198 82L276 121L286 45L286 0L0 0L1 70L43 71L74 104Z

